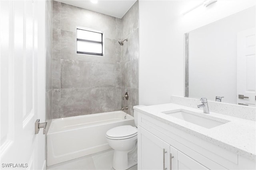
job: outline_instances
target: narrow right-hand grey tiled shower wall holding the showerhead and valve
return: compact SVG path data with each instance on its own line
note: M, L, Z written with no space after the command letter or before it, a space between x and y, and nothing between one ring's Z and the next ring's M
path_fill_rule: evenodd
M138 59L139 59L139 42L138 42L138 1L128 10L122 18L122 40L124 46L121 47L121 93L129 93L129 99L122 100L122 107L128 106L126 113L133 115L132 107L138 105Z

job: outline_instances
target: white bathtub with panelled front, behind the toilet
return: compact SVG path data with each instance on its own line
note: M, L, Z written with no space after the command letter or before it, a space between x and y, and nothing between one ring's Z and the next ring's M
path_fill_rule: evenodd
M110 149L106 132L132 125L134 118L124 111L52 119L47 133L47 166Z

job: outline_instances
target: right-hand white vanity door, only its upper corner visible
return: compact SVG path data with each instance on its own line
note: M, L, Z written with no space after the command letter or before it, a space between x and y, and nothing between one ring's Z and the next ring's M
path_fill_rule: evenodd
M178 170L208 170L208 168L178 151Z

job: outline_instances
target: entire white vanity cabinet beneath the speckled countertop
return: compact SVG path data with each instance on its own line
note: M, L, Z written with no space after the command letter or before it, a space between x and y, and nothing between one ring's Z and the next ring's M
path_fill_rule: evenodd
M255 162L138 112L138 169L255 169ZM173 158L171 158L174 156Z

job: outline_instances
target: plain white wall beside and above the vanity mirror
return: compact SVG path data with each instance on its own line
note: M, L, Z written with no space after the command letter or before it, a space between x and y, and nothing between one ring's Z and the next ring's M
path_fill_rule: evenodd
M255 5L254 0L219 0L181 14L200 2L139 1L139 104L184 96L184 33Z

